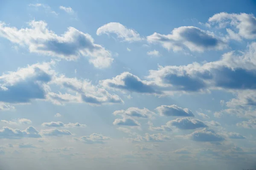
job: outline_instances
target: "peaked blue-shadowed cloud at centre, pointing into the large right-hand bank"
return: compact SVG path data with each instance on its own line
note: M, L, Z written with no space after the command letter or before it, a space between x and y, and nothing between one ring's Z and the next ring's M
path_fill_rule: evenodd
M101 84L105 88L119 89L142 94L161 94L161 92L156 89L153 82L143 81L129 72L123 72L112 79L102 80Z

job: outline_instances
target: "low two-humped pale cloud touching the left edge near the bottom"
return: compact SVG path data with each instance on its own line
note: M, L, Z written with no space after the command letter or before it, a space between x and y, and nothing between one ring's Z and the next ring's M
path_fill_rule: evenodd
M20 138L41 138L39 132L32 126L25 130L12 129L10 127L3 127L0 130L0 138L20 139Z

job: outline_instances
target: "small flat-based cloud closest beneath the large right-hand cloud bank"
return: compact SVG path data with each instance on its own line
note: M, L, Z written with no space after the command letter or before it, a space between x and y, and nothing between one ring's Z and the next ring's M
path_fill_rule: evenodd
M194 117L192 111L188 108L180 108L177 105L161 105L155 109L161 116L185 116Z

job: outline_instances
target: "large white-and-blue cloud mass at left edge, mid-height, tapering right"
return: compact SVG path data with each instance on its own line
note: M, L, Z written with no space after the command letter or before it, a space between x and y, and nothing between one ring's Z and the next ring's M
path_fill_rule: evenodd
M67 102L86 102L90 105L123 103L116 94L109 94L88 80L56 73L52 70L54 64L53 61L37 63L0 76L0 102L29 103L32 99L46 99L57 105ZM65 89L65 94L52 92L51 85Z

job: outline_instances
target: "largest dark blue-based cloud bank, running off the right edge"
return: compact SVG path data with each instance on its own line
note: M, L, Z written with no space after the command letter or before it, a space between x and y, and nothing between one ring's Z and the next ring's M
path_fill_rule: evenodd
M231 51L218 61L203 65L159 66L150 70L149 79L169 91L196 92L208 89L254 90L256 89L256 43L248 45L243 53Z

